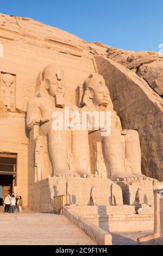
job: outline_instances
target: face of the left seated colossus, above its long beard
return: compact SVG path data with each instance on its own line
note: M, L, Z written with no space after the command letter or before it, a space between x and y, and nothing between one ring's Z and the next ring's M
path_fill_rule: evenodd
M57 94L65 95L65 82L61 80L57 80L57 77L52 77L49 80L49 94L55 97Z

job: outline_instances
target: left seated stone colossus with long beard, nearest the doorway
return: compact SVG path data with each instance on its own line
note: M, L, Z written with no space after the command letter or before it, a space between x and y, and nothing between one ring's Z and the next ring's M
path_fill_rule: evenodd
M68 164L68 129L53 129L54 113L60 111L64 116L66 106L70 111L78 110L68 97L63 70L58 65L46 66L43 73L40 73L40 83L37 84L39 86L36 86L35 97L29 100L27 105L27 127L31 130L37 125L39 134L47 136L48 154L53 169L52 176L88 174L89 144L86 132L71 131L71 154L75 162L74 167L71 167L71 164ZM37 166L39 166L38 163Z

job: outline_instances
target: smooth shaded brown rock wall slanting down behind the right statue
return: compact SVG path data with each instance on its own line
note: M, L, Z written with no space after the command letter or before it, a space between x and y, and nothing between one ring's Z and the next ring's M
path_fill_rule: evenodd
M122 65L101 56L95 59L121 119L122 129L139 132L142 173L162 180L162 98L142 78Z

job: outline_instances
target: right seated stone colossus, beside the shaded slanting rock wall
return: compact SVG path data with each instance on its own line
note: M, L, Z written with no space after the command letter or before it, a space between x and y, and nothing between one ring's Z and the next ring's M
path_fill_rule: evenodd
M148 179L141 173L139 134L135 130L122 130L120 118L113 109L109 90L101 75L93 74L86 79L80 107L82 107L81 111L111 113L110 135L101 136L107 178L113 181ZM123 147L122 135L125 147Z

